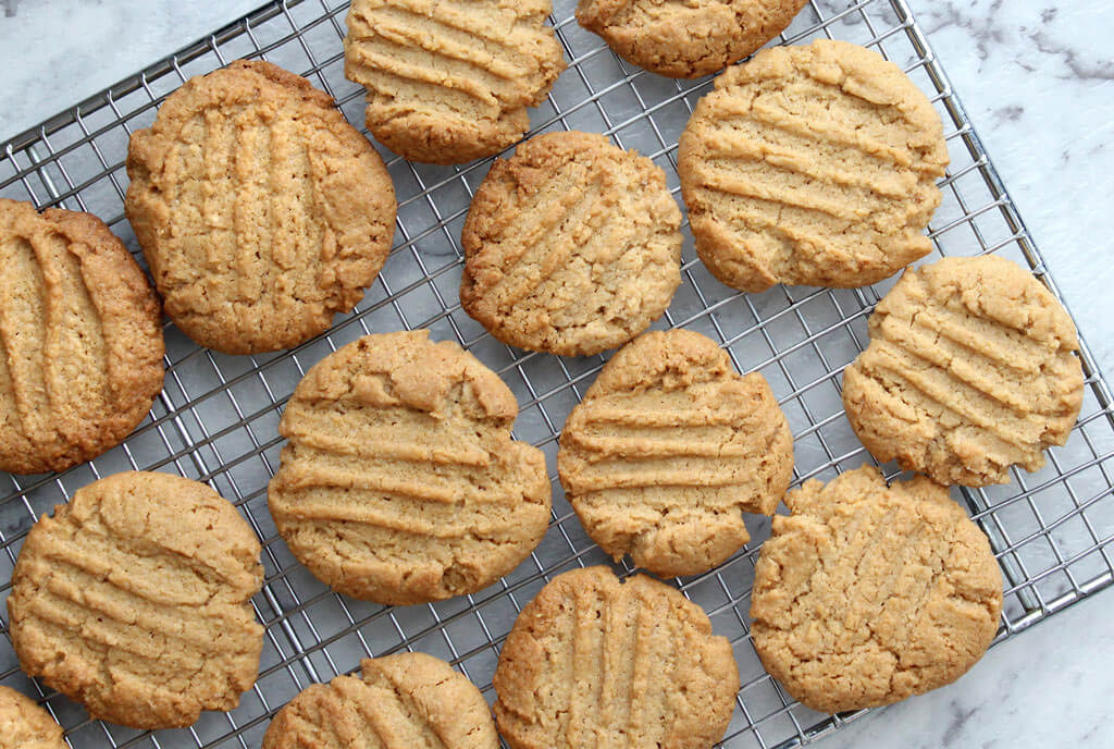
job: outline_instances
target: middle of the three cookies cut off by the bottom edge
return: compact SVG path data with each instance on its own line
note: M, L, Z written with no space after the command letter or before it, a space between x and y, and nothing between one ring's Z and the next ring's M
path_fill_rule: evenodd
M263 749L498 749L483 696L444 661L399 653L360 668L362 679L302 690L271 721Z

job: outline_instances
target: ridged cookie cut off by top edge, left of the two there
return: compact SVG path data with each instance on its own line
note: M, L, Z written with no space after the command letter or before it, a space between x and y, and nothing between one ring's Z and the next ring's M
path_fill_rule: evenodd
M430 164L512 145L565 69L549 10L549 0L354 0L344 75L368 89L368 129Z

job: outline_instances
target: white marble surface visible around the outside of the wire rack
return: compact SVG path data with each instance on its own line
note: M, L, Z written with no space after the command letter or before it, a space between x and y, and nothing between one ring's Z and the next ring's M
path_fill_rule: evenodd
M1114 373L1114 2L910 0ZM0 140L260 0L0 0ZM957 684L874 712L830 749L1114 746L1114 593L998 648Z

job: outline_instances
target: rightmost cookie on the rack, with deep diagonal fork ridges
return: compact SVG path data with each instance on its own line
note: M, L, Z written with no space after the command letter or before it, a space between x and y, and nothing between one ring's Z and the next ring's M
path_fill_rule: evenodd
M843 407L880 461L941 484L1009 481L1064 445L1083 405L1079 346L1064 307L1004 257L908 270L870 317L843 372Z

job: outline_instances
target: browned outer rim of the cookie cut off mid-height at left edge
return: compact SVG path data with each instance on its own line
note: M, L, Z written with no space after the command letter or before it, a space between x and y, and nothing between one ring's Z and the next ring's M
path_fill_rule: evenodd
M97 216L65 208L40 213L30 203L0 198L0 224L9 222L41 223L62 234L69 251L81 263L87 286L96 284L105 292L99 294L104 305L101 318L110 318L117 325L124 320L134 322L131 330L120 332L137 342L124 352L116 352L123 356L107 362L109 385L115 385L118 398L127 402L117 403L118 408L104 419L87 425L76 440L62 440L50 449L32 445L26 435L0 442L0 470L62 471L120 445L150 412L163 391L165 377L163 309L154 286L124 242Z

